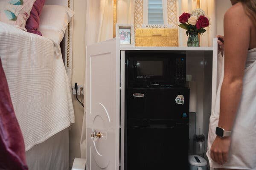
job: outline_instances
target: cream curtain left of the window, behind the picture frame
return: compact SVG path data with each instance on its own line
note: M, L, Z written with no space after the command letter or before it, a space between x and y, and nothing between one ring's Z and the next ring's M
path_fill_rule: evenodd
M87 0L86 45L113 38L113 0ZM117 0L117 23L134 23L134 0Z

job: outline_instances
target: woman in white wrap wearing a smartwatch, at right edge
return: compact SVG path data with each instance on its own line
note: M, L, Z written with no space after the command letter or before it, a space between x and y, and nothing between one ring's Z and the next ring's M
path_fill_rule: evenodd
M256 0L231 3L224 16L224 73L210 117L207 156L218 170L256 170Z

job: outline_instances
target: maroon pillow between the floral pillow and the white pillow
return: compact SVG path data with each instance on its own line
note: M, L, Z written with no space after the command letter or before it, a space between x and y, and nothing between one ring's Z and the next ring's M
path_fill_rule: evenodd
M45 0L36 0L33 8L30 12L30 16L29 19L26 22L26 29L28 32L34 33L34 34L38 34L41 35L41 32L38 31L39 28L39 23L40 23L40 15L41 15L41 11L44 7L44 2Z

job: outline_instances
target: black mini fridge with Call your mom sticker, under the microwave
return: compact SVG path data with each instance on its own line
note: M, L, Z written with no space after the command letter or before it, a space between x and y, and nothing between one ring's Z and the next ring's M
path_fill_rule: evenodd
M126 170L188 169L189 88L128 88Z

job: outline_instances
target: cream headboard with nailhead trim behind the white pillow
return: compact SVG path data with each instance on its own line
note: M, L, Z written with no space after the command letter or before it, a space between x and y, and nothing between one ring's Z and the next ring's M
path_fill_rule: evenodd
M46 0L45 4L47 5L61 5L67 6L73 10L73 0ZM64 64L67 71L67 76L72 80L72 58L73 58L73 19L70 21L68 28L64 36ZM63 51L63 49L62 49Z

